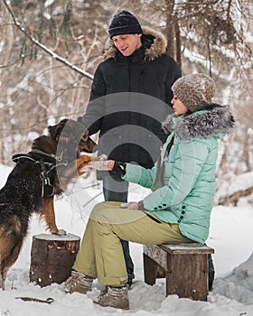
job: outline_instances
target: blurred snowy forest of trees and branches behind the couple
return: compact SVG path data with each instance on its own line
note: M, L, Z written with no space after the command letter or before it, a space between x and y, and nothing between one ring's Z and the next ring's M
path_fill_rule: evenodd
M183 75L215 80L215 101L230 104L236 118L220 142L216 202L252 196L253 181L231 188L253 172L252 0L0 0L1 163L28 152L47 125L84 114L108 23L122 9L164 33Z

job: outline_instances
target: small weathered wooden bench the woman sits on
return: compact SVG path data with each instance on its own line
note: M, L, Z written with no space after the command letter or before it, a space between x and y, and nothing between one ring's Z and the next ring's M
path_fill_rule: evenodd
M145 283L153 285L156 278L166 278L166 296L207 301L208 254L214 250L198 243L144 245Z

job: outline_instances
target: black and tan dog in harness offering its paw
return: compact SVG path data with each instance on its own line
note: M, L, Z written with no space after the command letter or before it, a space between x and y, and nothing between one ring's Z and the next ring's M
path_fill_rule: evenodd
M16 163L0 191L0 288L19 256L33 213L44 219L52 234L64 235L55 223L54 195L87 172L96 143L80 123L63 119L48 126L49 135L36 138L29 153L13 156ZM96 160L96 158L95 158Z

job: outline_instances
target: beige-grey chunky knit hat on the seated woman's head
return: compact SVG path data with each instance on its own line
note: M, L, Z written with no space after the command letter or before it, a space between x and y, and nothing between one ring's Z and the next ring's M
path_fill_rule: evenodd
M177 79L172 90L185 107L195 112L211 104L211 98L215 94L215 83L204 73L194 73Z

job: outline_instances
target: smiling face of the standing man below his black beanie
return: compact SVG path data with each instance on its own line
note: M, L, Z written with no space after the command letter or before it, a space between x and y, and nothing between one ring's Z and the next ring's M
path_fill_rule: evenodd
M123 56L130 56L141 47L141 36L142 34L122 34L113 36L112 40Z

